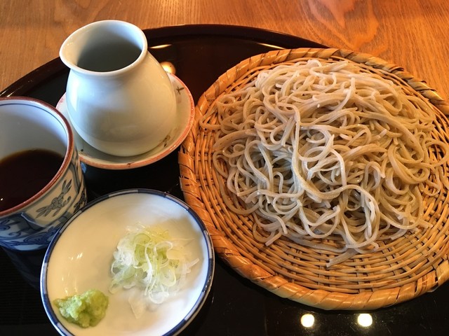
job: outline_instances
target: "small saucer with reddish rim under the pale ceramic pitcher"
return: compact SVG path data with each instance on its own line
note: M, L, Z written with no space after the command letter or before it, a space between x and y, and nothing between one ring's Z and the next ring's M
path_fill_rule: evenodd
M189 88L182 82L182 80L180 80L180 78L177 78L172 73L168 73L168 77L170 78L173 88L175 89L177 103L176 124L173 126L173 129L170 131L166 139L164 139L159 146L153 148L147 153L135 156L120 157L109 155L98 151L84 141L70 122L64 94L56 105L56 109L58 109L58 111L60 111L67 118L67 120L69 120L70 126L72 126L76 148L78 149L79 159L81 162L86 163L86 165L102 169L131 169L146 166L150 163L161 160L180 146L182 141L184 141L187 137L187 134L194 123L194 99L189 91Z

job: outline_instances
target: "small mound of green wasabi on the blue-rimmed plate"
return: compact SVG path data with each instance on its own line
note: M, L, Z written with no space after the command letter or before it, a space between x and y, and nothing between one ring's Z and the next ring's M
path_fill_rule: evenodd
M79 295L56 299L53 303L67 321L88 328L105 317L109 297L100 290L90 289Z

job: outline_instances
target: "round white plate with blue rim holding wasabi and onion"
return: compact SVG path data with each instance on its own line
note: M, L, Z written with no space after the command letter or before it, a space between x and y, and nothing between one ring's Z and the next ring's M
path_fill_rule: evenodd
M130 290L109 293L112 253L128 225L166 228L171 237L190 239L189 258L199 258L180 291L156 309L135 318ZM201 309L214 272L213 246L201 219L187 204L155 190L123 190L100 197L60 229L43 260L41 298L61 335L177 335ZM97 288L109 296L105 318L90 328L65 321L53 300ZM53 310L55 309L55 310Z

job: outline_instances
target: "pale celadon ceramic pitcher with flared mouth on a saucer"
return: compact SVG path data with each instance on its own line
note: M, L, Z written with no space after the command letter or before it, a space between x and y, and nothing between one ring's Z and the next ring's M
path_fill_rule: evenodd
M142 30L128 22L93 22L62 43L70 69L66 102L76 132L99 151L139 155L174 125L175 92L148 52Z

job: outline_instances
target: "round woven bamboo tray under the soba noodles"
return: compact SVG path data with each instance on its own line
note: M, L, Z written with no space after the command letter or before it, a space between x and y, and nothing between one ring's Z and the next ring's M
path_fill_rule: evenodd
M424 198L427 230L410 233L381 245L379 251L326 268L329 253L278 239L270 246L255 241L251 216L238 216L223 202L211 162L213 134L199 120L215 99L245 83L251 74L283 62L304 58L349 59L369 71L394 80L427 99L438 120L435 137L448 141L449 105L421 80L400 66L358 52L340 49L275 50L250 57L224 73L200 97L192 131L180 148L180 181L186 202L199 214L217 255L237 273L280 297L321 309L377 309L410 300L441 286L449 277L448 190ZM433 155L440 155L434 153ZM449 167L444 167L445 177Z

